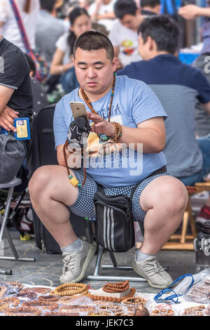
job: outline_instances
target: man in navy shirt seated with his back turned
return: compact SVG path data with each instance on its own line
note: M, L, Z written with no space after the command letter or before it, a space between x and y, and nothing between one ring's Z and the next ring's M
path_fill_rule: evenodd
M195 137L195 105L200 101L210 114L210 86L200 70L177 57L179 29L165 15L146 18L139 27L139 52L144 60L118 74L144 81L158 95L167 115L167 169L185 185L202 182L210 172L210 137ZM200 220L210 219L210 199Z

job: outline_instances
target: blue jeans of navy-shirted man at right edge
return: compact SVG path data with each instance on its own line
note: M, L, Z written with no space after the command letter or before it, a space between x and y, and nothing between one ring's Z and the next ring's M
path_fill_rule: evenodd
M204 177L210 173L210 134L202 138L197 138L197 143L203 155L202 169L193 174L193 176L179 178L184 185L195 185L197 182L203 182Z

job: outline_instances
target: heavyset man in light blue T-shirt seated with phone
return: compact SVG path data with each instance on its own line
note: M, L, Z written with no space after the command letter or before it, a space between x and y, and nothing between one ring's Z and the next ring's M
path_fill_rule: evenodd
M65 95L55 109L54 131L59 165L40 167L29 182L32 205L64 256L60 281L79 282L83 279L96 249L93 244L76 237L69 222L69 209L79 216L92 218L95 216L97 183L104 187L107 195L123 193L127 196L139 183L132 211L135 220L144 221L145 232L144 242L134 256L132 267L151 286L169 286L172 278L160 266L156 255L181 223L188 194L181 181L168 176L162 169L166 164L162 153L165 146L165 110L146 84L113 74L118 60L114 57L111 41L104 34L94 31L81 34L73 48L73 56L80 87ZM78 180L78 185L69 182L64 161L64 143L73 121L69 107L71 101L85 103L87 116L92 121L89 134L92 146L99 146L100 134L115 136L116 124L111 124L112 121L118 123L122 131L118 141L114 142L115 150L119 150L118 164L114 164L111 157L109 166L104 166L104 158L108 160L110 156L109 148L100 160L93 152L97 149L94 147L91 147L90 158L85 159L86 177L84 165L74 169L76 162L71 161L69 171ZM123 152L122 145L128 147L129 153ZM142 146L144 153L139 151ZM66 157L70 164L71 154L69 157L69 152L66 152ZM75 153L73 157L76 157ZM79 161L77 168L80 167ZM153 174L159 169L162 169L159 174Z

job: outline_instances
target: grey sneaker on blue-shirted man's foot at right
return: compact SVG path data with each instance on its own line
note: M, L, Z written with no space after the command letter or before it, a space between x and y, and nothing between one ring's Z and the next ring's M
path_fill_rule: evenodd
M165 289L173 282L172 277L161 267L155 257L149 257L141 263L137 263L136 256L134 256L132 269L146 279L153 288Z

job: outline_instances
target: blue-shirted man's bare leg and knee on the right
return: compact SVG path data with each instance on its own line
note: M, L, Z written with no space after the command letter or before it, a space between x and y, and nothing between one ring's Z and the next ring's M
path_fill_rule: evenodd
M141 208L147 211L140 251L156 254L183 220L188 192L180 180L172 176L161 176L146 186L139 202Z

